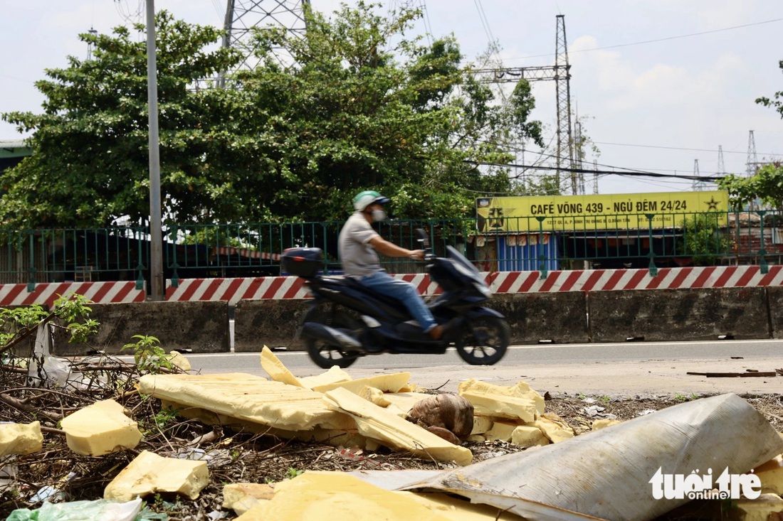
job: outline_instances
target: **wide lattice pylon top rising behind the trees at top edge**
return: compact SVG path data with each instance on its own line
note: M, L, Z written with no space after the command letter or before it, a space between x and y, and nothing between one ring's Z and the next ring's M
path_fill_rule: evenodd
M223 47L242 52L243 59L236 70L253 70L258 65L251 45L253 27L284 27L293 34L304 35L307 29L305 6L309 9L310 0L228 0ZM290 62L290 56L281 55L278 54L281 62ZM224 83L225 77L222 77L221 84Z

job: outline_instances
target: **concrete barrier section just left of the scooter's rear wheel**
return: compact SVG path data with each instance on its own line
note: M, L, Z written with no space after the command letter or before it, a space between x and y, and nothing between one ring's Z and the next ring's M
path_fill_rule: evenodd
M240 300L234 311L234 351L261 351L262 347L304 350L294 339L301 317L312 300Z

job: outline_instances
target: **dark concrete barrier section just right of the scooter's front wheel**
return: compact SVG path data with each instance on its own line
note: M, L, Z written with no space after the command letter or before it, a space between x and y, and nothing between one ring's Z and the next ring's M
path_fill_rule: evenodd
M506 317L512 344L588 342L583 291L500 294L489 307Z

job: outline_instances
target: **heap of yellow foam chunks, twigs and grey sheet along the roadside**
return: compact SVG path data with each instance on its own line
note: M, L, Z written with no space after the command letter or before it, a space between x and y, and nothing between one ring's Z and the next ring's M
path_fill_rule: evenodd
M187 368L181 356L172 360ZM217 486L220 505L189 519L658 519L690 498L671 486L676 479L662 479L663 496L656 497L655 476L705 475L707 468L716 479L709 483L715 490L706 491L716 493L725 491L721 472L744 479L755 469L749 476L758 486L749 481L727 492L745 494L734 498L744 519L783 511L783 439L733 394L627 422L598 419L575 436L524 382L470 379L456 394L430 393L406 372L352 379L334 367L299 379L266 348L261 364L269 379L137 375L138 393L122 388L70 408L61 429L39 421L0 424L8 474L0 493L36 507L18 508L8 519L166 519L161 512L175 510L172 499L196 502ZM142 422L143 413L155 420ZM191 433L200 426L200 434L187 440L181 431L164 432L175 416L186 419ZM63 436L67 450L84 459L62 468L69 472L55 483L29 490L16 469L49 461L42 452ZM164 443L150 444L156 437ZM269 446L258 451L261 440ZM293 444L309 459L304 473L283 458ZM503 450L479 455L477 447ZM66 461L62 453L56 458ZM330 458L345 462L345 471L317 470L319 460ZM229 476L232 465L247 472ZM244 480L258 465L283 465L290 479ZM69 501L74 494L67 492L88 478L100 486L92 498L102 499Z

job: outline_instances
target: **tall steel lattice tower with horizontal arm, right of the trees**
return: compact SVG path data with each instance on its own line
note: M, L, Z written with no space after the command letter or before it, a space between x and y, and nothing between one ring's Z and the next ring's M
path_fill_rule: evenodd
M554 66L511 67L503 69L477 69L474 77L484 83L512 83L519 80L554 80L557 91L557 185L560 185L561 168L573 170L574 143L571 124L571 66L568 64L568 46L565 39L565 15L557 15ZM571 192L578 192L576 174L571 173Z

